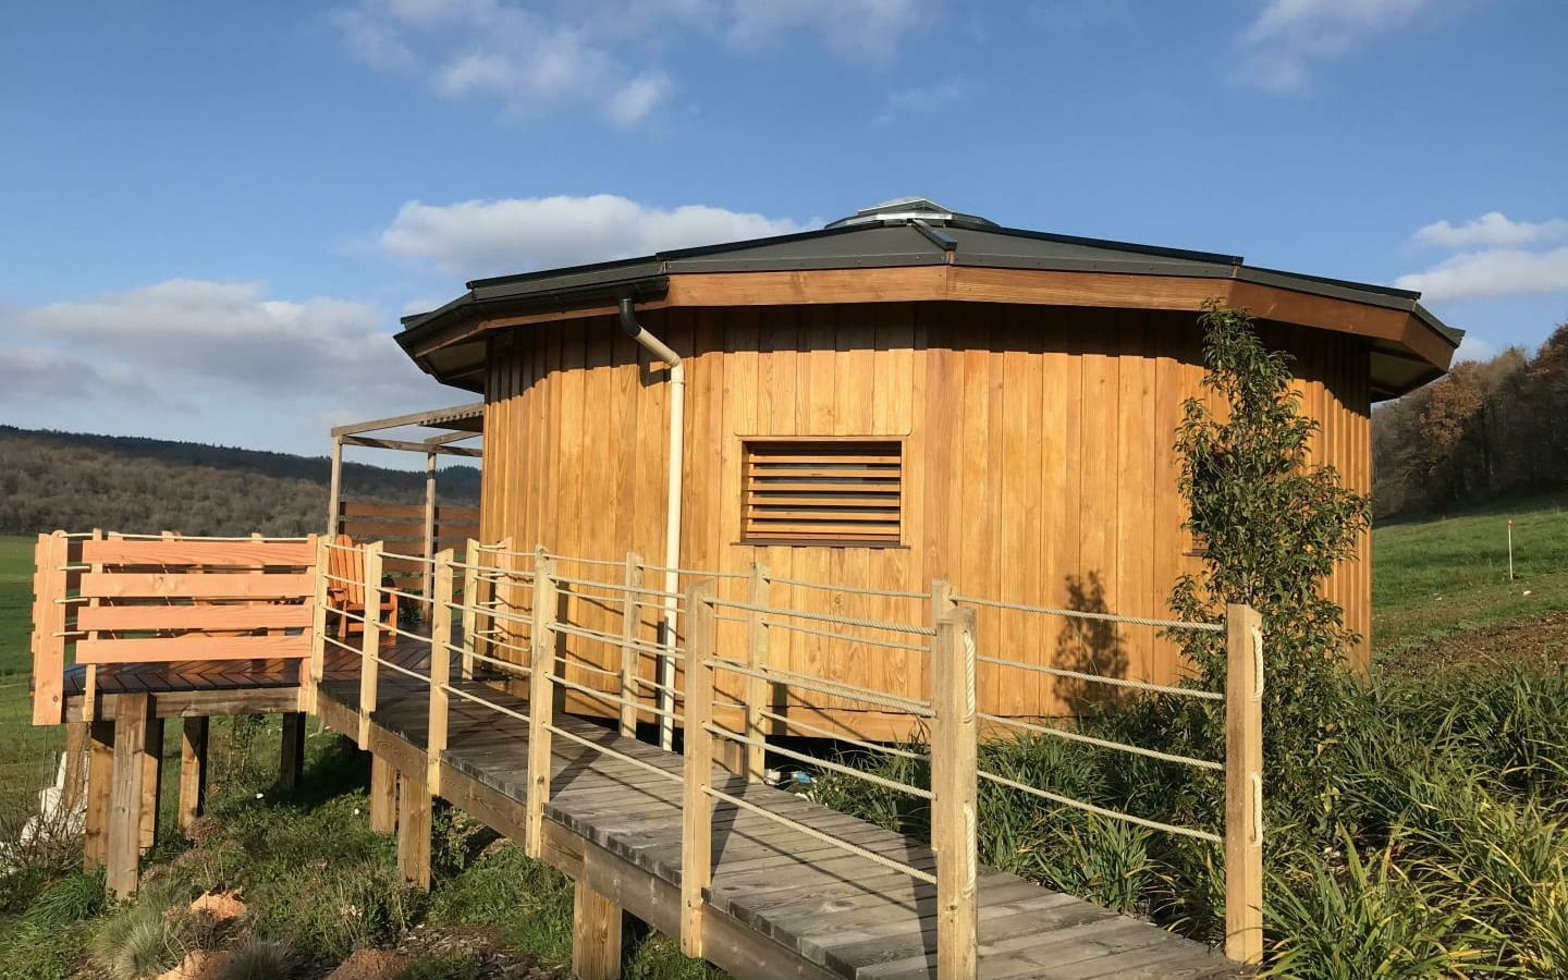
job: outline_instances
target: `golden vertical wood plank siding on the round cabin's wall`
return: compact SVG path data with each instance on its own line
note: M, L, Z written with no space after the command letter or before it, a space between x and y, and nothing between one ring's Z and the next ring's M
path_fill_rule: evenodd
M644 325L687 358L682 568L1040 605L1163 615L1178 575L1196 569L1181 530L1174 430L1200 386L1190 314L1005 304L845 304L670 309ZM1301 409L1322 426L1314 461L1355 489L1370 485L1367 356L1353 337L1265 325L1295 358ZM519 328L492 340L485 416L481 533L517 547L622 561L663 555L666 370L613 317ZM898 547L740 544L743 441L875 437L903 444ZM1370 632L1370 541L1328 583L1347 624ZM579 575L591 569L563 568ZM616 580L616 569L590 577ZM685 588L687 583L682 585ZM720 596L745 597L745 579ZM924 622L916 599L775 585L775 602ZM575 590L569 616L619 633L613 593ZM655 635L655 612L638 632ZM770 663L928 696L924 655L773 630ZM988 652L1127 677L1173 681L1182 665L1148 627L980 610ZM745 627L718 624L724 649ZM619 654L572 638L571 659L616 668ZM643 663L652 677L652 665ZM608 677L568 670L608 690ZM726 681L728 682L728 681ZM1091 691L1040 674L982 671L983 710L1047 715ZM739 685L731 695L740 695ZM800 695L792 695L798 698ZM818 698L812 704L848 712ZM613 713L605 706L605 713ZM848 717L848 715L845 715ZM646 720L646 717L644 717Z

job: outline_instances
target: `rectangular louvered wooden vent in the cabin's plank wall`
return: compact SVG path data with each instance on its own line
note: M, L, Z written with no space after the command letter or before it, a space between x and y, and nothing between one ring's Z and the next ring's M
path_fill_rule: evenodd
M898 544L897 442L748 442L745 539Z

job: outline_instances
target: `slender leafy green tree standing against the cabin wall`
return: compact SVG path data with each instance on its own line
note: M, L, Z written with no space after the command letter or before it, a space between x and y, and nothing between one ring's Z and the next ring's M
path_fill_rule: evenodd
M1182 619L1218 618L1229 602L1262 615L1265 770L1286 792L1327 789L1320 756L1333 740L1344 651L1356 635L1322 585L1355 555L1370 500L1345 489L1334 467L1309 464L1317 422L1298 412L1289 354L1264 347L1247 310L1210 299L1198 321L1203 386L1226 411L1189 398L1176 431L1179 489L1192 514L1185 527L1206 550L1203 571L1176 583L1170 605ZM1196 684L1223 690L1223 637L1171 630L1170 638L1192 657ZM1221 720L1210 721L1210 737L1223 737L1214 731Z

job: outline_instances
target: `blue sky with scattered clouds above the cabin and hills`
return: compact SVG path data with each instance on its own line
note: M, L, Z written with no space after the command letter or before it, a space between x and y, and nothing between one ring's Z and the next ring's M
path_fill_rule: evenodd
M320 453L469 278L924 194L1568 318L1560 0L9 5L0 422ZM367 456L367 458L373 458Z

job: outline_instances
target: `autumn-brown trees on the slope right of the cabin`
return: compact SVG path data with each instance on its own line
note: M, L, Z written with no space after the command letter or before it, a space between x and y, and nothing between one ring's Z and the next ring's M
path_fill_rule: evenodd
M1568 323L1372 412L1378 516L1568 488Z

